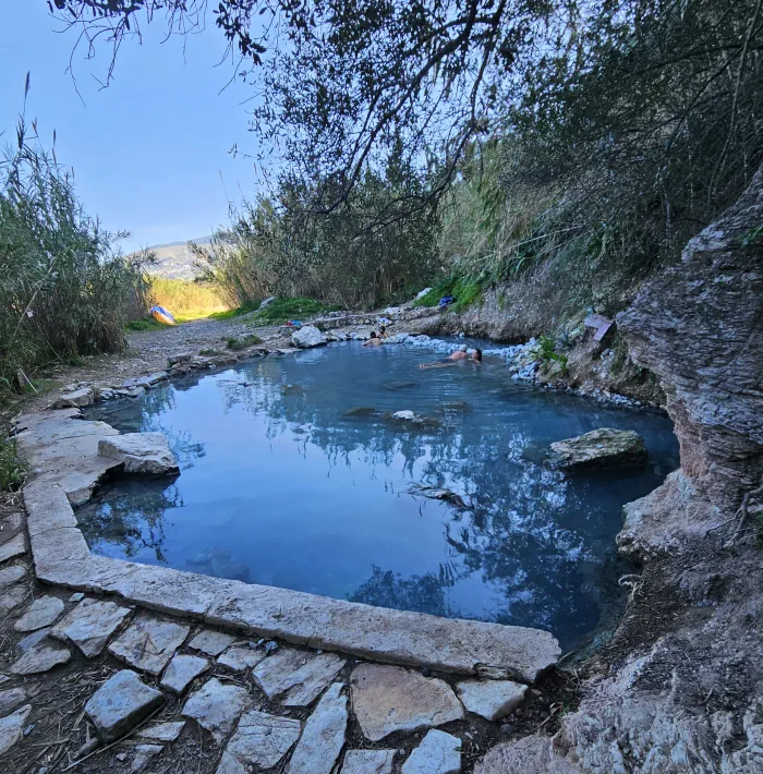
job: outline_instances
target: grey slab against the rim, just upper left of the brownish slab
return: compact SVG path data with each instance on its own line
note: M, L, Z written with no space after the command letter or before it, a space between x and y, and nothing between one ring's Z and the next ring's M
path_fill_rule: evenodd
M334 653L315 654L281 648L252 673L267 694L286 706L306 706L339 674L344 660Z

